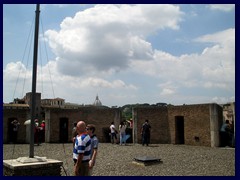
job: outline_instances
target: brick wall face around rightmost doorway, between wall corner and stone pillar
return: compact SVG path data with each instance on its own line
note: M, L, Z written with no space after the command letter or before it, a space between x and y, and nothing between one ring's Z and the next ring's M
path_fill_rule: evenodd
M209 105L185 105L169 108L172 143L175 142L175 117L184 118L184 144L210 146L210 114Z

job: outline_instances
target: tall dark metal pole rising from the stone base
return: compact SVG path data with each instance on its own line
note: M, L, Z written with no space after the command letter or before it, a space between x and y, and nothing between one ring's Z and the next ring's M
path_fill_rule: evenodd
M30 153L29 158L34 157L34 128L36 118L36 81L37 81L37 56L38 56L38 32L39 32L39 14L40 5L36 5L35 17L35 36L33 52L33 71L32 71L32 98L31 98L31 128L30 128Z

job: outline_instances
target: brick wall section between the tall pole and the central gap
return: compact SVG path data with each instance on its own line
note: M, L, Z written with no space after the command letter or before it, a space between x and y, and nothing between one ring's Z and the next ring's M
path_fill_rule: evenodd
M94 124L96 126L96 135L100 142L105 142L103 130L108 129L111 122L118 127L121 119L121 112L118 108L98 108L98 107L82 107L79 109L58 109L51 108L46 110L46 142L61 142L60 139L60 121L62 118L67 120L67 142L71 142L72 128L74 122L80 120L86 124Z

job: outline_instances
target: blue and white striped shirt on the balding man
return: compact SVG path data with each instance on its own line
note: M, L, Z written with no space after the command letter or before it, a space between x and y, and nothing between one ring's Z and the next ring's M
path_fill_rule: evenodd
M91 138L88 134L81 134L75 139L73 148L73 159L78 159L78 155L83 153L82 161L89 161L91 158Z

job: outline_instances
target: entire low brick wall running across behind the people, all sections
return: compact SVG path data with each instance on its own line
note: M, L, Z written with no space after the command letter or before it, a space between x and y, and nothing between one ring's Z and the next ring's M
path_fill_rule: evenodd
M26 142L29 108L4 108L3 139L8 142L8 120L18 118L21 123L18 142ZM120 108L79 107L77 109L45 108L45 142L71 142L73 123L79 120L95 124L100 142L108 141L111 122L120 124ZM141 126L148 119L152 126L150 143L172 143L199 146L219 146L222 107L217 104L182 106L145 106L133 109L133 142L141 143Z

